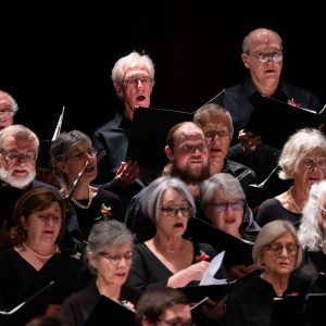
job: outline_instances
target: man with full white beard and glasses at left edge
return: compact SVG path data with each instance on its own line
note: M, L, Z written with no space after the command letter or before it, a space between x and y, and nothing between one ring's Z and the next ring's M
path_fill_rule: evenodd
M14 226L12 213L18 198L38 187L58 191L35 179L38 150L38 137L23 125L0 131L0 250L11 246L9 231Z

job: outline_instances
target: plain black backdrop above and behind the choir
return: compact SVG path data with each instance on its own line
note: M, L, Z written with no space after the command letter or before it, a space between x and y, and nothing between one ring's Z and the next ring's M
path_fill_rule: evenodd
M321 1L318 1L321 2ZM115 61L133 50L155 64L152 106L195 111L246 77L243 36L276 29L284 39L284 77L326 103L322 2L269 1L10 1L1 9L0 88L18 102L16 123L52 137L91 135L120 104Z

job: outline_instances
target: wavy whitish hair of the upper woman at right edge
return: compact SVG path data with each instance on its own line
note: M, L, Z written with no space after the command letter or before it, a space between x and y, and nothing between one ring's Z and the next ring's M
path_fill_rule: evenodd
M321 149L326 156L326 138L314 128L303 128L293 134L281 149L278 160L280 179L292 179L293 174L308 152Z

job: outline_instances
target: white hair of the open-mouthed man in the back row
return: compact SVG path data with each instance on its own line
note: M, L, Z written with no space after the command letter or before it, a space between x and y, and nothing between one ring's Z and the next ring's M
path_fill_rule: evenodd
M116 88L121 85L122 80L125 77L125 71L127 67L136 66L139 64L145 65L147 67L150 77L154 82L155 68L150 57L145 53L140 54L136 51L133 51L128 55L123 57L115 62L111 74L114 87Z

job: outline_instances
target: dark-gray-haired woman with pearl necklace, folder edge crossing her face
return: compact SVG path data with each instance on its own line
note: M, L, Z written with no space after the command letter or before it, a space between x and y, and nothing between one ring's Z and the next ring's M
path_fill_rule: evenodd
M51 145L50 156L70 209L64 244L84 252L96 222L106 217L123 220L121 200L113 192L91 185L98 171L97 156L90 138L84 133L61 133Z

